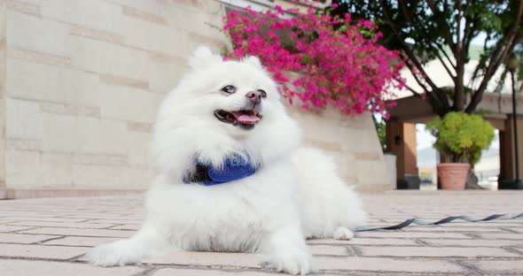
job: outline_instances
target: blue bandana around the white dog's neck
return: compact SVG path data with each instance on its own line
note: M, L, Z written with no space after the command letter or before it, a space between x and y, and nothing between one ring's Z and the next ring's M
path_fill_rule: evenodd
M223 160L220 170L212 166L198 163L196 173L190 178L183 179L185 183L198 182L200 185L211 186L223 184L234 180L241 180L256 173L257 167L244 157L233 155Z

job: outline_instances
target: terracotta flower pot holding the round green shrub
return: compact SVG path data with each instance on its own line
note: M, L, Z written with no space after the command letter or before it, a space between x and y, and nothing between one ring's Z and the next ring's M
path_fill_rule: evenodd
M466 163L438 164L438 178L442 189L463 190L470 165Z

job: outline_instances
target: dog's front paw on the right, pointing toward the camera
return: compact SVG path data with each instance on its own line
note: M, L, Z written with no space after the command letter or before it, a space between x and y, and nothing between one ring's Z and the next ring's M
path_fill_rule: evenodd
M287 272L293 275L306 275L312 272L311 257L308 253L277 254L263 262L263 267Z

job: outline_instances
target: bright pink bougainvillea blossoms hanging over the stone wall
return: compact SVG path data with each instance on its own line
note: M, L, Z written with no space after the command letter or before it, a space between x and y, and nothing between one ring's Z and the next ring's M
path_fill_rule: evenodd
M297 11L276 6L265 12L247 7L228 13L223 29L233 49L225 58L259 57L291 104L297 96L305 109L332 106L345 113L379 112L387 118L386 108L394 103L386 104L386 99L404 86L404 63L397 51L377 43L382 36L378 27L365 19L351 24L348 13L336 17L312 7L293 18L283 17L285 12Z

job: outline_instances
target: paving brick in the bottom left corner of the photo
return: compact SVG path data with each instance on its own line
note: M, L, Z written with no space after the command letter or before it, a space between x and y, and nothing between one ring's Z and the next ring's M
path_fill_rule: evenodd
M98 267L84 264L0 259L0 272L6 276L131 276L143 271L143 268L134 266Z

